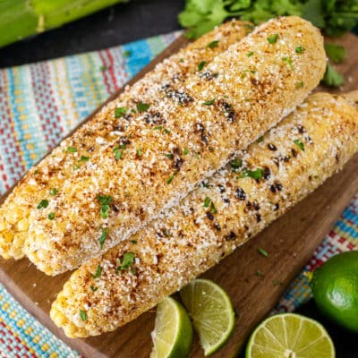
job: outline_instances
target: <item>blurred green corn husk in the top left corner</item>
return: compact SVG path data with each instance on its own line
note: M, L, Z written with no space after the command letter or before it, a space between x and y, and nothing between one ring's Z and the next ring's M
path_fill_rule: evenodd
M128 0L0 0L0 47Z

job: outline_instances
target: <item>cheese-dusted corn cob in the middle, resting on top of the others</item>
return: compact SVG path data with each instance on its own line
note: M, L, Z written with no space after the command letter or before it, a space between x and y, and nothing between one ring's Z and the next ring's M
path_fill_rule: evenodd
M56 274L107 251L294 109L324 68L319 31L300 18L280 18L217 55L180 90L164 89L158 106L133 99L118 120L118 103L109 103L98 116L112 126L113 139L99 137L89 165L46 208L31 211L25 253L39 269ZM135 107L143 113L132 120ZM115 158L119 149L123 154ZM55 220L47 218L51 213Z

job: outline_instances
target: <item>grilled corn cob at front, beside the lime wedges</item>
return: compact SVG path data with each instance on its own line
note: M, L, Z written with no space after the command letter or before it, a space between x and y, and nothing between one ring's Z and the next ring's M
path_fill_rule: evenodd
M358 107L312 95L166 216L75 271L52 320L68 337L88 337L135 319L258 234L357 150Z

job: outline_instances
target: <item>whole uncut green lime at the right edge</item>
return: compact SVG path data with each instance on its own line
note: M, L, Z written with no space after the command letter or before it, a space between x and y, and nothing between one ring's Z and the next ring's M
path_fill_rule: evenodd
M358 333L358 251L340 253L317 268L311 290L328 319Z

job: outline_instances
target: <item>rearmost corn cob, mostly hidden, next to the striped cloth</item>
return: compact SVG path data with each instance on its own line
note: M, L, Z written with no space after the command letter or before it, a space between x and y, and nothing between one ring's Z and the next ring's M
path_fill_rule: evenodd
M205 66L217 54L226 50L227 47L241 40L251 30L251 24L243 21L230 21L218 27L192 42L188 47L183 48L177 54L170 56L165 60L165 64L158 66L147 73L145 79L138 81L133 85L133 90L141 95L141 100L149 105L153 105L158 100L163 84L175 88L180 81L188 74L198 71L198 66ZM217 47L208 47L213 41L217 42ZM205 63L204 63L205 62ZM150 83L150 86L141 85L142 82ZM123 107L130 107L132 88L127 88L118 100ZM158 96L155 96L155 94ZM139 116L133 114L132 116ZM5 259L21 259L23 257L22 247L29 228L30 210L43 198L56 195L64 180L71 180L73 167L78 166L78 160L81 157L89 157L90 153L81 151L76 156L66 155L63 148L80 149L83 133L89 130L90 126L96 127L95 131L104 135L106 130L112 131L112 127L106 129L106 123L101 117L95 118L85 128L63 142L62 148L57 148L52 153L56 161L49 163L44 160L38 166L30 170L21 183L14 188L13 192L7 198L3 207L0 208L0 254ZM96 136L87 136L86 144L93 150L99 149L96 142ZM81 166L86 166L87 162L82 161ZM51 173L51 175L48 175Z

